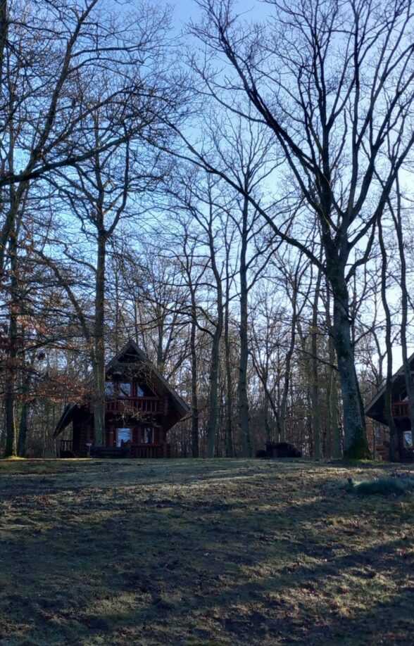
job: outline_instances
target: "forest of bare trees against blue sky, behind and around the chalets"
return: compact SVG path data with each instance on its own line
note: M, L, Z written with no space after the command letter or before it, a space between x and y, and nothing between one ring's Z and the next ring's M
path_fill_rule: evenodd
M85 395L99 445L128 338L179 457L368 455L393 346L414 419L411 1L197 4L0 1L5 455Z

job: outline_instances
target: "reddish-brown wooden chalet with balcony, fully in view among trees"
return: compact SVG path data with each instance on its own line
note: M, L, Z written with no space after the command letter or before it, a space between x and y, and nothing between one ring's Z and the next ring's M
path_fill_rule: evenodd
M106 366L105 407L104 446L96 449L92 398L65 407L54 431L60 457L170 457L167 433L189 411L132 339Z

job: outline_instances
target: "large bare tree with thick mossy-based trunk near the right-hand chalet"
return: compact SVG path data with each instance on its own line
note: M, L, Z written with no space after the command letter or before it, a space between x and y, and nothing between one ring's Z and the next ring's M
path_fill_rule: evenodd
M220 105L270 129L284 151L294 186L320 224L322 263L271 211L250 198L275 233L299 248L330 281L345 452L365 456L348 283L370 256L375 224L414 142L412 2L268 4L275 14L267 25L241 26L232 0L199 1L203 20L192 26L192 34L206 46L208 58L224 55L228 65L225 74L208 59L194 65ZM241 93L256 110L253 115L234 101ZM388 154L391 134L394 143ZM196 145L189 147L196 163L241 190ZM351 262L353 250L358 253Z

